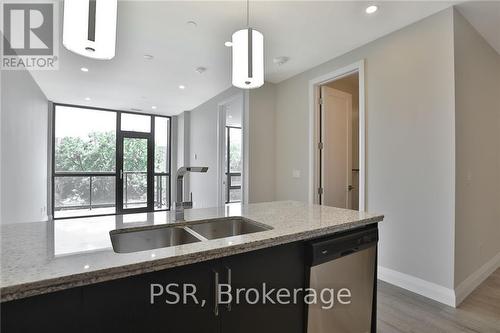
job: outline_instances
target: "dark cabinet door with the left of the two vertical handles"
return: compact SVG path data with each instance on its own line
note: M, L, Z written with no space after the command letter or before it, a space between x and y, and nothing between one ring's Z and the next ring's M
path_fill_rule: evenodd
M210 307L214 303L209 302L212 266L213 262L204 262L86 286L83 332L217 332L217 318ZM185 304L182 301L183 286L191 285L197 288L199 304L192 297ZM167 293L167 286L172 294ZM163 292L152 298L151 288L156 294ZM175 302L174 292L181 301L168 304Z

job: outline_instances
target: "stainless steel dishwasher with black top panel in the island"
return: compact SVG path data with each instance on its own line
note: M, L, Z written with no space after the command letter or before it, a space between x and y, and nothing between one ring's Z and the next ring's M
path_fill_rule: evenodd
M308 305L307 333L366 333L376 331L376 225L343 232L309 243L309 288L319 295L333 289L335 304L325 309L318 302ZM342 288L350 291L349 304L337 299ZM344 290L344 293L346 291Z

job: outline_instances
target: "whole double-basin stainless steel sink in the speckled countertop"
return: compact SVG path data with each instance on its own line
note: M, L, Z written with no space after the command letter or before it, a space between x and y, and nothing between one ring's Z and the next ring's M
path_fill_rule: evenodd
M271 229L268 225L235 216L182 224L117 229L109 234L115 252L130 253Z

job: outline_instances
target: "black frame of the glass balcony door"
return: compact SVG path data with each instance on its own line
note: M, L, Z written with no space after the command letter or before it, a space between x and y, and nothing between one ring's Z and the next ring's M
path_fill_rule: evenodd
M120 117L121 121L121 117ZM119 121L119 122L120 122ZM125 213L145 213L153 210L154 206L154 120L151 117L151 132L132 132L122 131L117 132L116 140L116 212L117 214ZM147 140L147 203L146 207L140 208L123 208L123 140L125 138L131 139L145 139Z

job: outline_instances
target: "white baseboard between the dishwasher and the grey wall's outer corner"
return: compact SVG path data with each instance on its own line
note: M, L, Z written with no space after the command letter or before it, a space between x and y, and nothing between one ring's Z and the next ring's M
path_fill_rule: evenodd
M378 266L378 278L421 296L455 307L455 291L438 284Z

